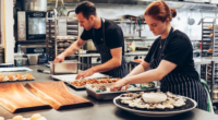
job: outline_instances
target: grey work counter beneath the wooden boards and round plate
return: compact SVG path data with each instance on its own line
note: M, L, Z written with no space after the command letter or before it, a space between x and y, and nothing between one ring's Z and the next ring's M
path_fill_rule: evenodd
M33 65L32 74L36 77L36 81L32 82L53 82L50 79L49 74L38 73L37 69L48 69L45 67ZM24 73L22 73L24 74ZM26 82L22 82L25 84ZM5 83L0 83L5 84ZM108 101L98 101L89 96L87 96L85 91L75 91L69 87L70 92L74 95L80 97L86 98L92 100L95 105L93 107L83 107L83 108L74 108L74 109L66 109L66 110L55 110L55 109L45 109L45 110L36 110L36 111L27 111L27 112L20 112L20 113L11 113L7 109L0 106L0 116L4 117L5 119L11 119L14 116L22 115L25 118L29 118L33 113L40 113L41 116L46 117L47 120L218 120L217 115L209 113L207 111L199 110L195 108L192 111L174 116L168 118L147 118L147 117L140 117L133 115L131 112L124 111L116 107L112 100ZM22 103L22 101L21 101Z

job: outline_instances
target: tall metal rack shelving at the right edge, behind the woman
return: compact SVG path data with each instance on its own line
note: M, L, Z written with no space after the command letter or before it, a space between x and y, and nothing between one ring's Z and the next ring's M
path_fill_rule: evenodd
M202 57L211 58L211 63L201 67L201 79L207 81L210 88L210 97L214 104L218 103L218 98L214 98L214 91L218 88L218 62L216 61L216 57L218 57L217 19L218 17L205 17L202 21Z

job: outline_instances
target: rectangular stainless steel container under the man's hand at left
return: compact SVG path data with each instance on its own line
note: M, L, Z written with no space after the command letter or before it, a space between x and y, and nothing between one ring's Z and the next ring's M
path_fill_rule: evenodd
M78 63L76 60L65 60L61 63L50 62L50 71L51 74L76 74Z

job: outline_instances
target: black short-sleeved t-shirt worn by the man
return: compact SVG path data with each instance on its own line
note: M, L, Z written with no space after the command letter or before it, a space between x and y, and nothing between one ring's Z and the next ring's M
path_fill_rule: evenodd
M81 39L83 40L93 39L93 41L97 45L104 43L102 24L104 22L101 21L101 27L98 29L95 28L90 28L89 31L84 29L81 35ZM122 29L119 25L109 20L105 20L105 43L106 46L108 46L110 49L122 47L122 55L124 55L124 38Z

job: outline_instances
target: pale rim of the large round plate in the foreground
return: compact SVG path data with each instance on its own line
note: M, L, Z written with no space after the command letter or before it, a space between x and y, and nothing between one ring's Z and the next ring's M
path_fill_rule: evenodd
M161 112L158 112L158 111L144 111L144 110L135 110L135 109L131 109L131 108L128 108L128 107L120 106L119 104L116 103L116 100L119 99L119 98L120 98L120 96L118 96L118 97L116 97L113 99L113 104L117 107L119 107L119 108L121 108L123 110L130 111L132 113L140 115L140 116L146 116L146 117L170 117L170 116L174 116L174 115L179 115L179 113L183 113L183 112L190 111L190 110L194 109L197 106L197 103L195 100L185 97L186 99L190 99L191 101L194 103L194 107L189 108L189 109L184 109L184 110L179 110L179 111L161 111Z

